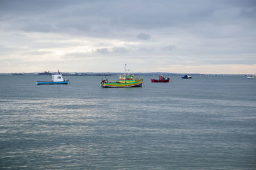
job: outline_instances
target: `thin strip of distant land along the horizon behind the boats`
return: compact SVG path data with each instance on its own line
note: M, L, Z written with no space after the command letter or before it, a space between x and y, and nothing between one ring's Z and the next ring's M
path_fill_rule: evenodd
M45 76L45 75L51 75L51 74L58 74L58 72L44 72L44 73L0 73L0 75L15 75L15 76ZM77 73L77 72L61 72L60 74L63 74L64 76L116 76L116 75L122 75L124 73L112 73L112 72L106 72L106 73L93 73L93 72L84 72L84 73ZM199 74L199 73L164 73L164 72L152 72L152 73L130 73L134 75L140 75L140 76L156 76L156 75L170 75L170 76L180 76L184 74L188 74L191 76L248 76L251 74Z

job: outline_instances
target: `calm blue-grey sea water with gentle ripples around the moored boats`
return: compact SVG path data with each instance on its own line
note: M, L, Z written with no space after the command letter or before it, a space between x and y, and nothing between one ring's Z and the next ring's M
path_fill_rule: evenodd
M0 76L0 169L256 169L255 80L152 77Z

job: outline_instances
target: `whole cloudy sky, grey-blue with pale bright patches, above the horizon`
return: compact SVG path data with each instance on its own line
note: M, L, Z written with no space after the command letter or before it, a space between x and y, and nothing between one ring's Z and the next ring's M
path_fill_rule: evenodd
M253 74L256 1L0 0L0 73Z

